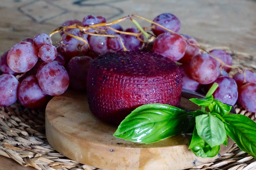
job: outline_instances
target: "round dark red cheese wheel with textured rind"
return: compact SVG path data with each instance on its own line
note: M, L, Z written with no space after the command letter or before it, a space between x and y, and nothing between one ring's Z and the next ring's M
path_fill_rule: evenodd
M88 71L90 110L104 122L120 122L149 103L179 106L182 77L169 58L150 52L120 51L96 58Z

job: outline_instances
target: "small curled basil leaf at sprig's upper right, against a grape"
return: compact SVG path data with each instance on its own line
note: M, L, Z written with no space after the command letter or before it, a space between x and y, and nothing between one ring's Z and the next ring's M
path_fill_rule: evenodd
M232 106L224 104L218 99L214 99L213 102L208 107L211 112L220 113L221 116L228 115L232 108Z

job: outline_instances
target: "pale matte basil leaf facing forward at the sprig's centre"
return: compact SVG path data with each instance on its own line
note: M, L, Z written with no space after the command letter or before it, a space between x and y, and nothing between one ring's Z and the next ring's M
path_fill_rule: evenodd
M222 144L226 139L226 131L222 121L210 113L196 117L198 135L211 147Z

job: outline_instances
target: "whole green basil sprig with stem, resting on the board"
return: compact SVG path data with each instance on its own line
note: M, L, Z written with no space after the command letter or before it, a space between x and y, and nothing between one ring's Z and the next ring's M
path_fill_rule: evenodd
M194 129L189 149L198 157L216 156L221 144L227 146L228 135L241 150L256 158L256 123L244 115L228 115L232 106L212 96L217 87L214 83L204 99L190 99L201 106L193 112L162 104L140 106L121 122L114 136L152 143Z

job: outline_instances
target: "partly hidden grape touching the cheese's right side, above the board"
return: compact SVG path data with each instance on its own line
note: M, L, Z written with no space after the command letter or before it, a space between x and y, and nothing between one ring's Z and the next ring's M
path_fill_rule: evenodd
M196 91L200 87L200 83L193 80L189 74L189 63L184 63L180 67L182 75L182 89Z

